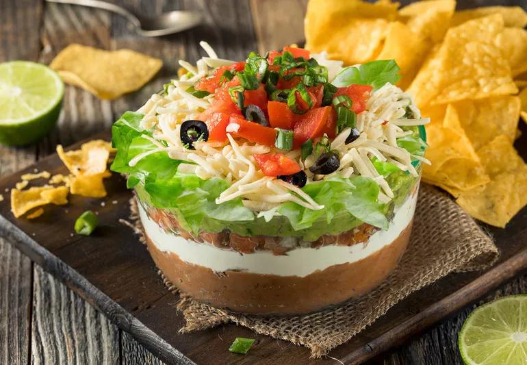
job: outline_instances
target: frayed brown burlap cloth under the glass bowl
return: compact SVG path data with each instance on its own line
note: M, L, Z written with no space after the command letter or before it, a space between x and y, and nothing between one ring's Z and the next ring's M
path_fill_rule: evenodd
M132 212L136 210L132 206ZM138 222L137 214L131 218ZM179 331L187 333L233 322L257 333L303 344L311 349L311 357L318 358L350 340L415 290L448 273L487 268L498 256L491 238L447 194L422 184L409 247L396 270L372 292L338 307L289 317L236 314L181 296L177 308L186 324ZM176 292L166 279L164 283Z

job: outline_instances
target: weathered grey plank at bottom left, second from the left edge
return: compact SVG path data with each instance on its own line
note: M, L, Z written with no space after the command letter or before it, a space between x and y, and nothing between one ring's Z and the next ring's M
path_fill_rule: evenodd
M116 326L40 266L35 266L34 275L31 362L116 364Z

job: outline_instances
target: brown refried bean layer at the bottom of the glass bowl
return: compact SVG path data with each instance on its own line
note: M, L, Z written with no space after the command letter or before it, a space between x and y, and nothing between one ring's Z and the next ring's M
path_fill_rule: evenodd
M305 277L213 270L159 250L146 236L157 267L181 292L215 307L250 314L303 314L357 297L378 286L407 248L413 221L381 250L363 260L337 264Z

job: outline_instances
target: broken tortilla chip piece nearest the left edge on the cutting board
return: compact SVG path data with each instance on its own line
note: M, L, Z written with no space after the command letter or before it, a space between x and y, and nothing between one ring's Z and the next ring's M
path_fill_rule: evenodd
M11 211L18 218L34 207L53 203L63 205L68 203L68 189L64 186L38 186L27 190L11 189Z

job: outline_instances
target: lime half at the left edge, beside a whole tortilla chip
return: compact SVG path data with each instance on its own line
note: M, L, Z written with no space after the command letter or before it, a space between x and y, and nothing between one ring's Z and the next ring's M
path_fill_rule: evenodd
M60 114L64 84L34 62L0 64L0 142L23 145L45 136Z

